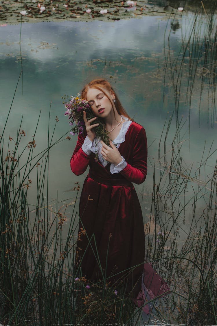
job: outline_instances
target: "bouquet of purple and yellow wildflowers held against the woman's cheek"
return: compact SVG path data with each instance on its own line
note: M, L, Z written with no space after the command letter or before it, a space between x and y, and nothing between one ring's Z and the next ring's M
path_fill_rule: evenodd
M85 123L83 119L83 111L86 112L87 119L95 117L88 102L85 99L80 98L80 93L76 97L71 96L69 102L63 102L65 104L66 112L68 115L70 126L72 126L71 135L84 134ZM109 146L109 132L105 129L105 126L98 119L91 122L92 125L98 123L99 126L95 127L96 136L99 137L106 145Z

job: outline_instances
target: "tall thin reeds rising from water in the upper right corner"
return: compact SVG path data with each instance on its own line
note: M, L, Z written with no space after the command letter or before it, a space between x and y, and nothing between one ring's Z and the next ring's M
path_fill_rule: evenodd
M182 44L176 55L171 51L172 28L164 37L164 85L171 84L173 89L176 125L179 125L180 103L185 99L190 123L197 88L200 89L198 103L198 123L206 120L207 126L213 128L216 120L216 8L213 1L209 14L197 10L194 14L183 15L181 19ZM201 7L202 9L202 7ZM174 19L168 20L173 25ZM186 83L187 79L187 83ZM204 102L204 97L206 98ZM165 93L163 95L165 98Z

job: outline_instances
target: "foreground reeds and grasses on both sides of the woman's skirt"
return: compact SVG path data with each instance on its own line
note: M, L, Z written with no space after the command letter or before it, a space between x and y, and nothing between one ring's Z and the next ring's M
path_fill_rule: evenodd
M200 173L195 171L194 175L192 167L184 167L178 133L172 148L166 148L170 123L169 119L162 132L164 151L161 153L159 146L158 161L153 163L150 223L145 231L146 259L168 282L172 293L156 304L150 319L197 325L202 320L213 323L216 322L217 293L217 170L215 167L203 183L197 177ZM17 139L9 140L6 150L5 141L1 143L0 320L25 325L141 323L142 311L136 309L130 294L125 294L124 284L120 283L116 295L115 288L108 284L103 273L102 281L91 284L79 268L73 272L78 217L75 202L79 186L75 199L69 204L60 206L57 196L56 208L54 203L45 202L43 196L45 192L49 194L47 154L65 137L53 141L56 124L43 152L35 153L34 139L20 150L21 139L26 137L21 125ZM179 130L183 124L180 123ZM36 132L37 128L34 134ZM28 156L22 164L25 151ZM209 156L211 153L210 150ZM207 158L202 157L198 169L202 169L206 162ZM37 174L34 205L27 201L33 171ZM190 197L186 195L189 187L194 187ZM197 202L203 196L205 205L198 214ZM189 204L192 216L186 231L184 225L189 217L185 211ZM74 208L67 225L68 233L63 237L69 206ZM180 233L186 235L181 245ZM89 239L89 245L92 239L94 235ZM96 259L99 261L97 254Z

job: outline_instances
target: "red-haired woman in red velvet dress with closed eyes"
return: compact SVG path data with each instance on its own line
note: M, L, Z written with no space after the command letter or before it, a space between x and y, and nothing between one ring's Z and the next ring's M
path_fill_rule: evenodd
M112 284L124 280L127 291L133 290L136 298L141 289L145 241L142 211L132 183L141 184L146 177L145 130L130 119L109 82L91 81L81 97L101 119L112 141L107 146L96 138L96 117L87 120L84 111L86 134L78 136L71 158L76 175L89 165L79 204L75 263L79 266L81 262L82 275L92 282L104 277Z

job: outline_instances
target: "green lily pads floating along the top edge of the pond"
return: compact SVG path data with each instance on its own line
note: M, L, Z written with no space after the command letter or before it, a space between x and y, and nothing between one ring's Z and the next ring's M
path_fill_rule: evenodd
M76 19L80 21L88 20L119 20L132 17L141 17L142 15L156 15L165 16L177 14L178 8L173 8L171 6L166 6L165 8L157 4L148 4L148 0L139 0L136 5L129 7L127 1L121 0L26 0L21 2L21 0L1 0L0 1L0 21L9 23L16 22L39 22L39 21L53 21L56 19L61 20L71 20ZM214 2L217 6L217 1ZM40 13L40 7L38 4L45 7L45 10ZM161 4L161 2L159 2ZM198 5L199 4L199 5ZM65 6L67 5L67 7ZM213 7L213 2L210 2L210 6ZM87 14L86 10L91 9L91 13ZM185 6L185 11L187 10L187 5ZM193 11L204 10L201 2L198 3L192 1L191 7L189 8ZM107 9L107 14L100 14L100 10ZM142 10L141 10L142 9ZM28 14L20 18L20 11L26 10ZM206 5L207 12L209 7ZM27 18L28 17L28 18Z

